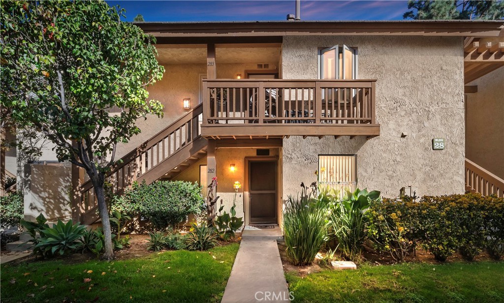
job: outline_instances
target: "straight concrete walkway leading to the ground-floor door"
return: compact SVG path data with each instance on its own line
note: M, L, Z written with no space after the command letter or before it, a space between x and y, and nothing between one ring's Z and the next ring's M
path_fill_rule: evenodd
M222 303L289 302L275 229L245 228Z

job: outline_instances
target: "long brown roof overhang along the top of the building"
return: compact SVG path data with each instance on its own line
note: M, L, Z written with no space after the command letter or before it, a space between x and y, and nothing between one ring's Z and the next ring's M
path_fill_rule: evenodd
M186 39L273 38L304 35L494 37L504 29L502 20L138 22L135 24L144 32L159 38Z

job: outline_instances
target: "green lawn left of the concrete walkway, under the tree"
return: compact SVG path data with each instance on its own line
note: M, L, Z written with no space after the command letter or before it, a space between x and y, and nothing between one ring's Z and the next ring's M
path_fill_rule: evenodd
M114 262L2 265L2 302L220 302L238 246Z

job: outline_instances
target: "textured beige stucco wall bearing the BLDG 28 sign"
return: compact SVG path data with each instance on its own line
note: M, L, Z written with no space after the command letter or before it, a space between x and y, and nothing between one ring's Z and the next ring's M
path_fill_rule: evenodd
M381 135L284 139L283 195L316 180L318 155L357 155L358 187L397 196L403 186L417 194L464 191L463 49L458 37L287 36L284 79L317 79L319 47L358 48L359 79L377 79L376 121ZM407 134L401 138L401 133ZM444 137L445 150L431 140Z

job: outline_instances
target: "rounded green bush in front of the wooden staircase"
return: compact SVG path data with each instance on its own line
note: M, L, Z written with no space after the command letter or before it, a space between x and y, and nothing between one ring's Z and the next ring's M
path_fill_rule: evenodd
M175 229L187 215L200 214L205 206L197 183L158 181L149 185L135 183L123 196L112 200L111 209L147 218L158 229Z

